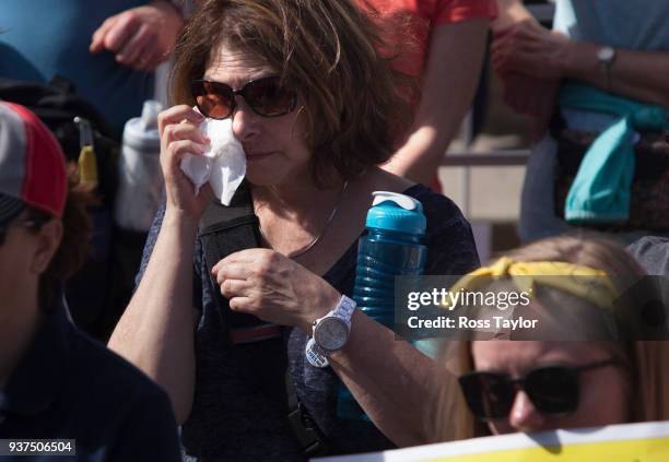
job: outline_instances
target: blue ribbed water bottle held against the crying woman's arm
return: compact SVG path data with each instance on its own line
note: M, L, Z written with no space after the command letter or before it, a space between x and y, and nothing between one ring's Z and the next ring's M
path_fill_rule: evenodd
M426 220L422 204L397 192L375 191L365 232L357 244L353 298L357 308L392 329L395 276L423 273L427 248L422 239ZM351 392L340 383L337 413L341 418L368 419Z

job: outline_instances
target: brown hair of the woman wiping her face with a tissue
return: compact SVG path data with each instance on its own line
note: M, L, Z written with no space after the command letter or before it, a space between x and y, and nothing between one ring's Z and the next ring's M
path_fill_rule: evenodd
M208 0L176 48L172 92L192 105L222 44L261 57L305 102L313 178L361 175L391 156L411 122L415 86L382 57L378 28L348 0Z

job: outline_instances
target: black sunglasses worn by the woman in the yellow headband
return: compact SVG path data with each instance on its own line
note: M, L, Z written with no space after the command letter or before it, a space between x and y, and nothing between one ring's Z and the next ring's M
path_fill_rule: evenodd
M519 389L540 413L564 415L578 407L579 374L612 365L620 365L620 362L607 359L577 367L544 366L517 379L506 374L469 372L458 381L469 410L481 420L506 418Z

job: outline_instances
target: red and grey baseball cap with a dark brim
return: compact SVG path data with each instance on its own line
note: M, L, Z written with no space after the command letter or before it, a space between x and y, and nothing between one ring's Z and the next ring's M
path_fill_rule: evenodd
M24 106L0 102L0 224L27 205L58 218L68 193L58 141Z

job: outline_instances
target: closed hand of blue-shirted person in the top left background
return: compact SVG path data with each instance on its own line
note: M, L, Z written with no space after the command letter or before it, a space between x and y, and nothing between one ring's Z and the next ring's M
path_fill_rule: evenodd
M179 11L156 0L107 17L93 33L90 50L109 50L124 66L152 71L169 57L183 26Z

